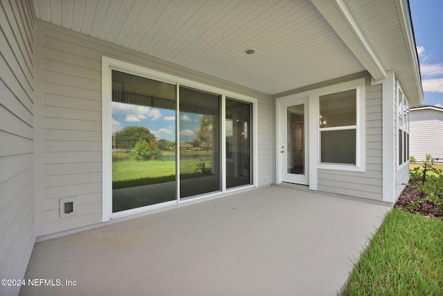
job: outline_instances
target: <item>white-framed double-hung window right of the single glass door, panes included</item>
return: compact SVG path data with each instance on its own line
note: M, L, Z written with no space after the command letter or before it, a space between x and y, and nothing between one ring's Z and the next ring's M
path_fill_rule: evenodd
M365 78L317 94L318 168L365 171Z

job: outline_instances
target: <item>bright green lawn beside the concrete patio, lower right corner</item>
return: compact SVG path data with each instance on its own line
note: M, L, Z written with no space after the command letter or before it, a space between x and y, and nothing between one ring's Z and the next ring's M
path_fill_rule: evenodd
M443 295L443 220L392 209L343 295Z

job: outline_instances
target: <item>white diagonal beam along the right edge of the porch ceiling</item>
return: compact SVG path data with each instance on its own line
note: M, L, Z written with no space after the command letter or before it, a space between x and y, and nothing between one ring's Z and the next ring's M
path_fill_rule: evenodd
M386 69L343 0L311 0L311 2L372 77L375 80L386 78Z

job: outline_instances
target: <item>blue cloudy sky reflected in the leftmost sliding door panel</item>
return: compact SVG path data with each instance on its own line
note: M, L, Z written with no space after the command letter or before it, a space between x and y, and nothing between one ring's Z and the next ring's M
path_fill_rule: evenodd
M174 110L112 102L112 132L131 125L147 128L158 140L175 141Z

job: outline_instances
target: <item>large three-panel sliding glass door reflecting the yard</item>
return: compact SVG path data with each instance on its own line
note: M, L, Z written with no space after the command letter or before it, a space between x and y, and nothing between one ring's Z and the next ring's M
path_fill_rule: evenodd
M104 172L111 171L114 216L253 184L253 103L110 73L111 116L104 122L111 141L104 142L112 150Z

